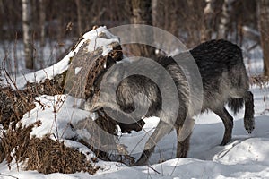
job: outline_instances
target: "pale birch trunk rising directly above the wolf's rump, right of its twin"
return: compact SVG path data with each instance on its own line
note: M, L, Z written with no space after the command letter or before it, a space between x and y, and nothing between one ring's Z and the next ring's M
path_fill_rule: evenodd
M232 4L235 0L224 0L222 4L221 21L218 30L218 38L228 38L230 26L230 13L233 11Z

